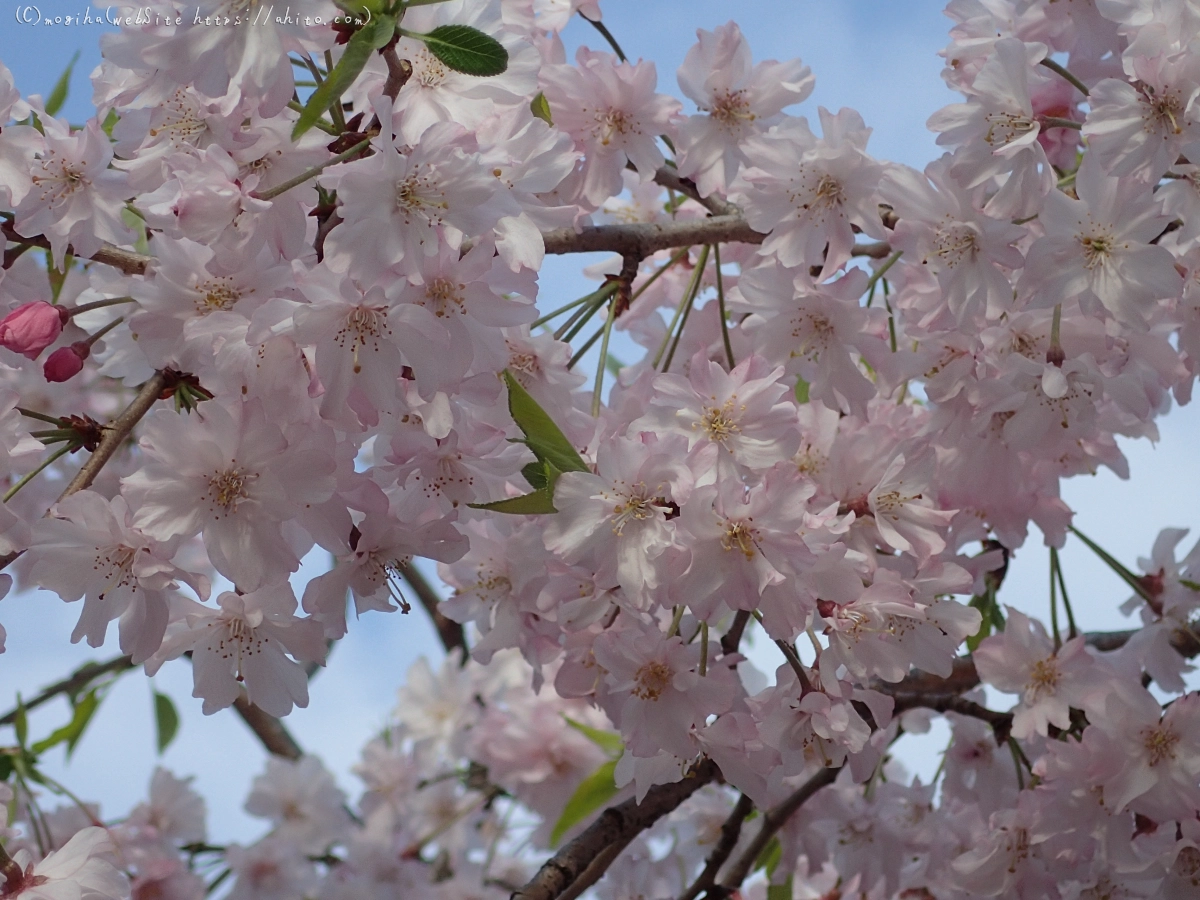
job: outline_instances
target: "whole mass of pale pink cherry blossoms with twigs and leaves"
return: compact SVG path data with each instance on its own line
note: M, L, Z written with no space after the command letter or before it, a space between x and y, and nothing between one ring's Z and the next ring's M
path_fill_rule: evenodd
M1031 523L1067 540L1062 479L1126 475L1116 437L1190 400L1200 17L952 2L962 101L918 172L852 109L798 115L808 67L733 23L688 52L685 114L652 61L568 61L595 0L259 6L154 0L82 127L0 66L0 552L83 601L73 640L190 655L206 714L306 706L355 618L415 601L452 654L409 673L353 808L270 744L298 758L245 847L166 772L107 835L47 815L22 733L0 898L500 898L652 792L592 848L598 896L731 895L760 860L791 895L1200 889L1200 551L1105 554L1128 634L1067 607L1064 640L1056 552L1049 629L997 598ZM596 290L539 307L545 254L594 250ZM923 785L890 748L938 714Z

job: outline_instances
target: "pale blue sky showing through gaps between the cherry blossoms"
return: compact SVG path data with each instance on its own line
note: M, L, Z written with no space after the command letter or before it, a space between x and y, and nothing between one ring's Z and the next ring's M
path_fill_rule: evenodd
M80 14L83 0L40 0L43 16ZM734 16L754 48L755 60L799 56L816 74L816 90L792 112L816 119L818 106L832 110L848 106L874 127L869 149L876 156L923 168L938 156L925 120L954 102L941 80L937 56L947 41L949 20L934 0L607 0L605 23L629 56L658 64L659 89L678 95L674 71L695 42L697 28L713 29ZM23 94L48 94L76 49L80 60L71 82L62 115L74 122L91 113L88 79L100 61L97 26L23 26L12 8L0 8L0 60L13 72ZM564 40L569 53L581 42L605 49L599 35L576 20ZM578 274L592 259L548 258L542 274L541 305L553 308L580 296L589 283ZM622 356L619 346L614 353ZM632 353L626 353L631 359ZM584 368L584 371L587 371ZM1064 498L1076 510L1076 524L1127 565L1148 554L1163 527L1200 524L1200 416L1194 408L1172 412L1160 422L1162 440L1122 442L1133 476L1120 481L1106 469L1096 478L1064 485ZM1184 540L1182 550L1192 546ZM1078 541L1063 556L1067 584L1076 618L1088 630L1129 626L1117 611L1128 596L1121 582ZM313 560L313 566L319 560ZM317 568L301 570L298 586ZM1009 569L1001 593L1004 602L1045 617L1048 554L1033 529ZM92 650L72 646L68 637L78 616L53 595L10 596L0 602L0 622L8 630L8 652L0 655L0 708L17 691L29 697L86 660L108 659L115 646ZM300 744L319 755L352 797L359 782L350 773L359 749L385 724L396 688L407 668L422 654L438 658L433 630L419 610L350 623L349 635L335 648L330 666L311 684L307 709L287 719ZM780 660L760 641L754 655L769 673ZM175 743L161 763L178 775L194 775L210 804L210 839L217 842L253 840L262 823L241 811L251 779L262 772L265 754L232 710L203 716L191 697L188 664L167 664L155 686L170 695L182 714ZM1000 708L1006 708L1001 706ZM66 721L65 703L48 704L31 716L31 734L42 737ZM937 767L947 732L937 728L919 743L900 745L899 755L926 780ZM0 743L11 742L0 732ZM47 770L84 798L98 800L106 817L124 815L144 794L156 762L151 688L140 673L116 683L88 733L67 763L61 750L47 756ZM53 802L49 804L53 806Z

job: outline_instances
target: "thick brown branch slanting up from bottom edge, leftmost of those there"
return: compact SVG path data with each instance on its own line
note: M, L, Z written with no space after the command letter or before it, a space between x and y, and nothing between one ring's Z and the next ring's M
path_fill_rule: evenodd
M606 847L625 846L719 776L716 763L704 760L682 781L652 787L641 803L629 799L610 806L582 834L551 857L528 884L512 894L511 900L557 900L583 876Z

